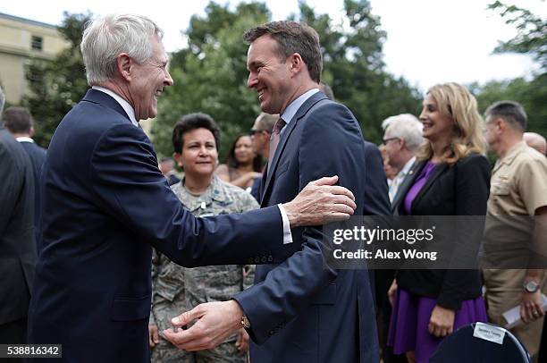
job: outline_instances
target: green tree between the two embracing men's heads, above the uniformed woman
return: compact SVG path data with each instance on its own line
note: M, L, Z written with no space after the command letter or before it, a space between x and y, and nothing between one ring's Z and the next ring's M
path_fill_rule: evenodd
M205 17L192 16L188 47L172 55L174 85L158 101L152 134L159 154L173 153L173 125L183 114L203 112L215 119L222 131L222 155L237 134L248 132L260 109L256 92L247 89L248 46L241 36L269 19L261 3L239 4L231 12L229 5L212 2Z

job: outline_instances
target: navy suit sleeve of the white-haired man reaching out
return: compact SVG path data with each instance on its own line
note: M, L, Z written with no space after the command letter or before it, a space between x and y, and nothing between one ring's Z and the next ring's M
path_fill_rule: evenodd
M147 136L130 123L105 131L88 173L96 203L133 231L136 239L150 243L178 265L272 263L287 257L282 255L278 207L195 217L181 206L159 172Z

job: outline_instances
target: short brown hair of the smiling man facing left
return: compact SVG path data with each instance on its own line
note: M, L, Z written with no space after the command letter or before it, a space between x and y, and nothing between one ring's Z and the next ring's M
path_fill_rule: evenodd
M247 30L243 40L250 44L266 34L277 42L277 52L282 62L293 53L298 53L306 63L311 79L317 83L321 81L323 60L316 30L297 21L272 21Z

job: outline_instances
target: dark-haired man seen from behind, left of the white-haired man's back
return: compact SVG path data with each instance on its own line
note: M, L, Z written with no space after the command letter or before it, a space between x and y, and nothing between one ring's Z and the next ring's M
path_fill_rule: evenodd
M32 139L34 136L34 125L29 111L24 107L13 106L4 111L2 117L5 128L10 131L21 146L29 154L32 162L32 171L34 175L34 230L36 232L36 247L39 253L40 247L40 184L39 178L42 172L42 165L46 160L46 149L40 148Z

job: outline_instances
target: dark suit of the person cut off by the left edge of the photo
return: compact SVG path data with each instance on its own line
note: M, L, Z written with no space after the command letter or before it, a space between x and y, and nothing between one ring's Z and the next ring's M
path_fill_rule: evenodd
M0 127L0 343L22 343L36 264L29 156Z

